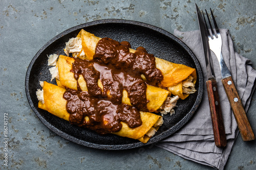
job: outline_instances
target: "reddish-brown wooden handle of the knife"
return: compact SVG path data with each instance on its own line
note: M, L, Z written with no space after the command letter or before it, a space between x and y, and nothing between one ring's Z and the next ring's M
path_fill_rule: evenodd
M214 130L215 144L218 148L224 148L227 144L227 139L216 80L206 81L206 87L208 92L212 129Z

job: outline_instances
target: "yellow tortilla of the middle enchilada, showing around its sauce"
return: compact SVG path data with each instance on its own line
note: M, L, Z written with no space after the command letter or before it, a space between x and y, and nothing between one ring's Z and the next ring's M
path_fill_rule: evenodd
M74 78L74 73L70 70L72 69L72 63L75 61L74 58L67 56L59 56L58 59L58 71L59 71L59 86L67 87L70 89L77 90L77 81ZM84 81L83 77L80 75L78 78L78 84L83 91L88 91L86 81ZM98 81L98 86L102 87L100 80ZM154 112L159 109L167 98L169 91L147 85L146 89L146 99L149 101L147 103L147 109L150 112ZM128 98L128 94L126 90L123 90L122 103L131 105L130 99Z

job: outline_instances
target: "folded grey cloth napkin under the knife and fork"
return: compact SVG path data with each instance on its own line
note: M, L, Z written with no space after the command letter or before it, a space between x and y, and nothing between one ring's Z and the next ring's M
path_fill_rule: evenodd
M232 79L236 84L245 111L247 112L251 96L255 89L254 81L256 79L256 71L252 68L252 63L249 59L234 52L229 31L220 29L220 33L224 61L231 72ZM206 66L199 30L190 32L175 30L174 35L186 43L197 56L202 67L204 82L206 82ZM178 132L156 143L156 145L185 159L217 169L223 169L239 131L221 82L222 77L218 60L212 52L211 56L220 95L226 137L228 139L226 147L220 149L215 145L206 87L204 87L202 102L191 120Z

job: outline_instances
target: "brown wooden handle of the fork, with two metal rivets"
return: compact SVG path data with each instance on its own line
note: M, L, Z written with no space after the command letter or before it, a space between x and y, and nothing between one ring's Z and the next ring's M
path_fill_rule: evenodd
M230 77L224 78L221 80L224 86L224 89L227 94L228 101L232 108L234 117L237 120L239 131L242 135L244 141L254 140L254 134L251 129L249 120L244 111L243 104L239 98L236 86L234 86L234 82Z

